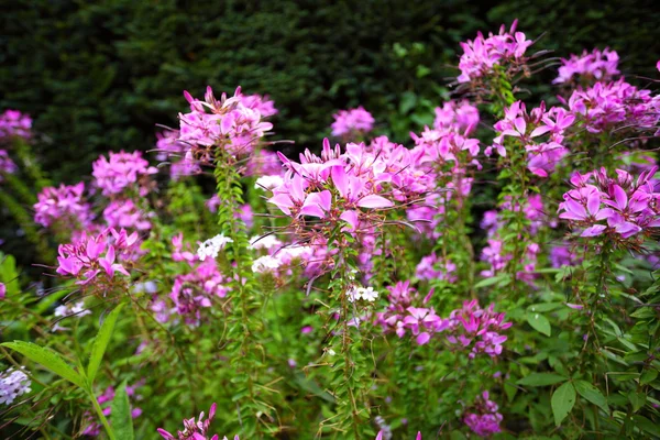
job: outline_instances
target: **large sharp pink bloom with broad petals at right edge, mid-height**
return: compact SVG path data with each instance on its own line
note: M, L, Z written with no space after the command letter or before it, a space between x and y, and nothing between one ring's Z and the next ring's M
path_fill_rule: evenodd
M657 170L642 172L637 180L623 169L616 170L616 177L607 176L605 168L584 175L575 172L574 188L559 204L559 218L581 230L581 237L606 234L622 241L651 233L660 227L660 193L652 180Z

